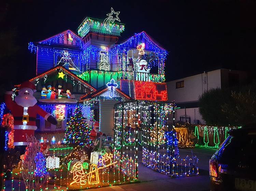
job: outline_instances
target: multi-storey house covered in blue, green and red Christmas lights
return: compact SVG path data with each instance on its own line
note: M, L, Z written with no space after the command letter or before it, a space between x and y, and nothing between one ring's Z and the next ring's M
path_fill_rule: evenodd
M58 119L55 126L38 116L40 136L50 139L55 134L56 141L61 141L60 131L66 129L78 104L89 125L97 120L101 131L113 136L114 104L131 99L167 101L167 51L144 31L117 43L124 24L106 27L103 21L86 17L77 34L66 30L29 43L37 56L36 76L30 79L37 86L35 97L39 106ZM56 89L61 85L58 91L63 96L40 99L42 87L49 85ZM67 90L75 99L68 98Z

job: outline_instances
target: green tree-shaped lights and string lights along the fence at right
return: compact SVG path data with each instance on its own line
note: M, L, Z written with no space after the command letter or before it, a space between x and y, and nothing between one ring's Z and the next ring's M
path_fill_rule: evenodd
M196 125L194 135L198 139L196 146L218 149L219 145L228 137L228 131L241 128L241 126L206 126Z

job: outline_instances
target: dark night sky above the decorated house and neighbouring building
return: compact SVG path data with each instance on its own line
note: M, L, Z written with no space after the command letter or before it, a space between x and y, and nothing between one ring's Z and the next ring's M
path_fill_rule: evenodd
M13 83L34 77L29 41L76 32L84 17L105 18L111 7L126 24L121 39L144 30L168 50L167 81L221 67L255 72L256 2L30 0L1 3L0 32L16 34L1 50L19 48L8 49L15 61L1 63L2 83L7 75Z

